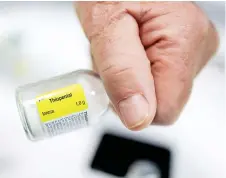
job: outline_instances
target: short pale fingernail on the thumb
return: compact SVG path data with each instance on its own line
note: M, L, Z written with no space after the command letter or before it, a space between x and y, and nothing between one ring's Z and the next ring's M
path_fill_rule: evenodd
M127 128L140 126L149 115L149 105L143 95L137 94L119 103L119 112Z

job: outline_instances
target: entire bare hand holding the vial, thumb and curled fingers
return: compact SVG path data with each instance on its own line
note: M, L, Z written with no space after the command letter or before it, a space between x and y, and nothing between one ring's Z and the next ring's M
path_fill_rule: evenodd
M179 117L194 78L218 47L192 2L77 2L97 72L125 126L141 130Z

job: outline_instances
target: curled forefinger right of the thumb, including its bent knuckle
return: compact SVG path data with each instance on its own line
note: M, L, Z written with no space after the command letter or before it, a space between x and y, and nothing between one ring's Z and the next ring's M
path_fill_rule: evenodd
M186 8L191 16L183 11L177 12L180 16L168 13L141 27L155 81L155 124L168 125L178 119L191 94L194 77L217 48L216 32L205 15L192 4Z

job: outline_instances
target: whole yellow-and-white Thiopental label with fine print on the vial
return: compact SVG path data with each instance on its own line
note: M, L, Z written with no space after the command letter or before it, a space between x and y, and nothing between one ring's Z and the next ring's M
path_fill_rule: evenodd
M80 84L53 90L36 97L40 121L50 136L88 123L88 103Z

